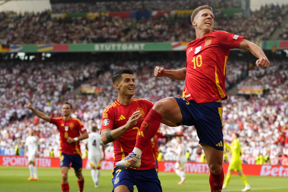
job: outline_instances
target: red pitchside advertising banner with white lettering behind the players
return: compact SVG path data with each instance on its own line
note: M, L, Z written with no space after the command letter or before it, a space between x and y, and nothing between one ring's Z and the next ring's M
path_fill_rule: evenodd
M158 161L160 172L174 172L176 161ZM60 167L59 158L36 158L36 167ZM228 169L227 163L223 164L224 173ZM0 155L0 166L28 166L28 158L16 155ZM83 168L90 169L87 159L83 159ZM288 177L288 166L281 165L248 165L242 164L245 175ZM102 170L112 170L113 161L102 161ZM186 173L210 173L205 163L187 162ZM237 174L233 172L233 174Z

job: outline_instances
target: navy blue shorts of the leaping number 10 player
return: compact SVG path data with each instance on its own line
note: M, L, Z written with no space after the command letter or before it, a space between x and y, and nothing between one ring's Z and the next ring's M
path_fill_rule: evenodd
M182 113L182 124L196 128L200 144L223 151L222 104L220 102L196 103L174 97Z

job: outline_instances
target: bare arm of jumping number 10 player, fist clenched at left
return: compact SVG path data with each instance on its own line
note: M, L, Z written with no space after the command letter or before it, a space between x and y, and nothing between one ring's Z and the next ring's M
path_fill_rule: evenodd
M165 70L163 67L156 66L154 69L154 76L155 77L169 77L171 79L176 80L185 80L186 78L186 67L177 70Z

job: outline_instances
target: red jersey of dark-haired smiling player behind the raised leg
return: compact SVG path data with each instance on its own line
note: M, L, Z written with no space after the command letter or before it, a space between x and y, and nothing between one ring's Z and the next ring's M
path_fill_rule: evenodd
M132 103L129 105L122 105L115 102L108 107L105 108L102 115L102 126L101 131L103 129L117 129L123 125L125 125L129 119L129 117L135 111L140 111L140 114L143 114L143 117L137 121L135 125L132 125L130 129L128 129L121 137L119 137L116 141L113 141L114 146L114 167L115 163L124 159L128 153L131 153L134 149L136 143L136 137L140 133L141 124L149 113L150 109L153 107L153 104L150 101L145 99L134 99L132 98ZM146 147L143 150L141 156L141 166L139 170L148 170L155 169L156 161L152 151L151 141L147 143Z

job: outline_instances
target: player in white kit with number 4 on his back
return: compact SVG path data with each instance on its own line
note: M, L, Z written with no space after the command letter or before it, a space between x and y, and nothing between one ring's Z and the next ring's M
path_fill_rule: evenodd
M99 185L99 178L100 178L100 164L101 160L105 159L105 152L104 152L104 145L101 141L101 135L99 133L96 133L97 128L93 126L91 128L91 133L88 137L88 161L91 165L91 177L93 179L93 182L95 184L95 187L98 187ZM102 150L104 153L104 156L102 158L100 146L102 146ZM95 167L97 168L95 172Z

